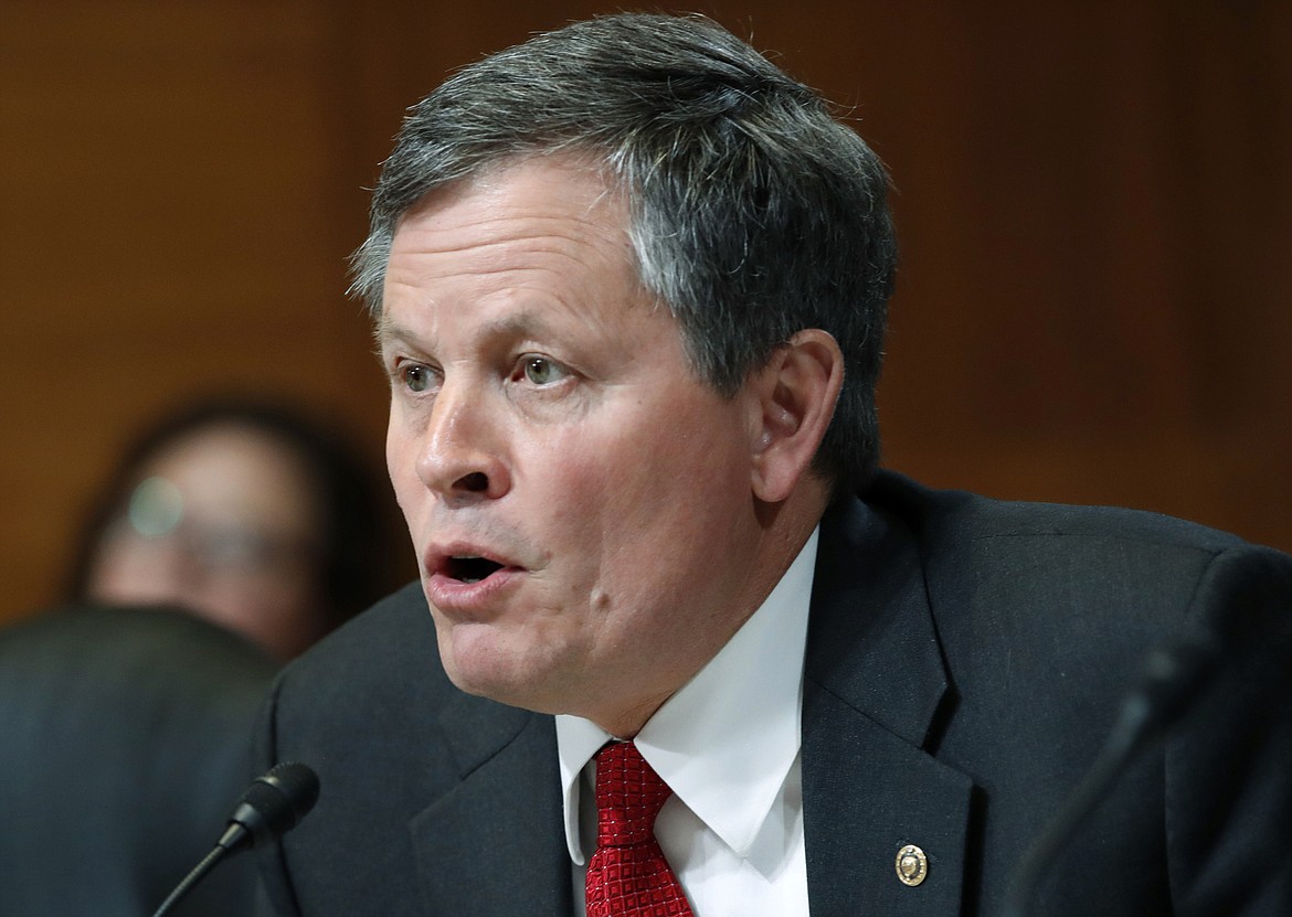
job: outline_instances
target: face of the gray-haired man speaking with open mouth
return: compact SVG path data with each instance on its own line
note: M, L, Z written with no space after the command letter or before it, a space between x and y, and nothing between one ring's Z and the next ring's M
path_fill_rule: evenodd
M767 590L757 399L689 369L625 214L559 159L438 191L395 232L379 331L386 458L450 677L611 731Z

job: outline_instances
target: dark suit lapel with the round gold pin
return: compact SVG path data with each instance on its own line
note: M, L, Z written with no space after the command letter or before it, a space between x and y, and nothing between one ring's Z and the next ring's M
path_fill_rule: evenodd
M947 678L912 535L859 502L822 523L804 686L813 917L960 912L972 780L925 745ZM898 878L906 845L928 873Z

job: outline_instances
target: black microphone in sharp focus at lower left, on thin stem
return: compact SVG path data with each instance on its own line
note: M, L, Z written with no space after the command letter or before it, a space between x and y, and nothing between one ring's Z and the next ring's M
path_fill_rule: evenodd
M282 837L314 809L319 798L318 775L306 765L284 761L256 778L229 816L229 827L214 849L193 868L152 917L163 917L229 854L249 850Z

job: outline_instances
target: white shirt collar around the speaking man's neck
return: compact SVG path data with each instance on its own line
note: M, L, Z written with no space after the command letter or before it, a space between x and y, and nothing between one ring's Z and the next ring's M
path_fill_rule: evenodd
M748 856L798 756L818 533L749 620L634 740L677 798L739 856ZM612 736L581 717L556 719L566 842L581 864L579 775Z

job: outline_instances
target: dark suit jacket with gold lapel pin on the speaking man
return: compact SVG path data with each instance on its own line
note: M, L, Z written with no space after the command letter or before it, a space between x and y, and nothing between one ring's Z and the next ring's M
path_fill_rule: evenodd
M823 520L805 669L814 917L997 912L1146 652L1191 617L1292 603L1292 558L1142 513L1001 504L880 475ZM1132 766L1037 913L1288 914L1287 615ZM571 913L550 717L446 679L417 586L287 670L258 766L314 765L262 867L283 914ZM919 845L928 878L898 881Z

